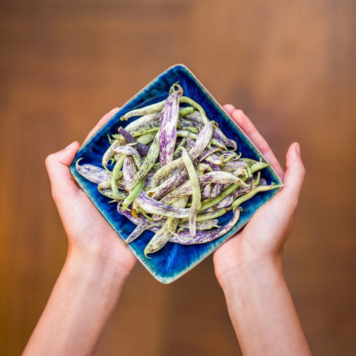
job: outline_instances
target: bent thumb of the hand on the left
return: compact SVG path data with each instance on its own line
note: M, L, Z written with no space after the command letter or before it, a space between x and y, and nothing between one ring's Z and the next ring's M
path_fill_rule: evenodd
M48 177L51 183L52 196L56 204L61 199L73 195L78 191L78 187L72 180L69 166L79 148L79 142L72 142L66 148L49 155L45 160Z

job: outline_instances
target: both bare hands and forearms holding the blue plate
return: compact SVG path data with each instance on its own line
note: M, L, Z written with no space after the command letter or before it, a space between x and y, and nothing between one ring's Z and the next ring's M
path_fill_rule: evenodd
M214 253L243 355L312 355L282 272L282 251L293 223L305 170L298 143L284 172L241 110L224 109L283 179L283 189L247 226ZM89 138L118 108L106 114ZM64 267L23 355L92 355L136 259L72 180L78 142L49 155L52 196L68 236Z

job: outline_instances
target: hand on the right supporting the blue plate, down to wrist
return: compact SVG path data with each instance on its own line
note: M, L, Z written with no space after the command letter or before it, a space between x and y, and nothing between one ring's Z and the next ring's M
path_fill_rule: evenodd
M284 187L256 212L241 231L215 251L215 273L220 283L231 271L243 265L267 263L281 267L283 245L292 228L305 176L298 143L293 143L288 149L284 173L267 142L247 116L230 104L224 109L270 162L282 178Z

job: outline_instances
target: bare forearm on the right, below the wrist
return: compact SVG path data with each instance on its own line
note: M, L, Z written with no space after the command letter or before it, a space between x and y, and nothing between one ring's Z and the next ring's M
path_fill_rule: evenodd
M278 261L241 265L220 282L244 356L312 355Z

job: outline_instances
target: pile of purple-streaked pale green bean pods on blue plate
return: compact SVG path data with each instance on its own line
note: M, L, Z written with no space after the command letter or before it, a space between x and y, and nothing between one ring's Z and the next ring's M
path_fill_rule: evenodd
M146 229L155 233L144 249L146 258L168 241L213 241L237 223L241 203L279 187L261 178L259 171L268 164L236 153L236 142L183 96L178 83L167 99L127 112L121 120L132 117L137 119L109 137L103 168L80 165L81 159L76 168L137 225L127 244ZM219 226L218 218L229 210L233 218Z

